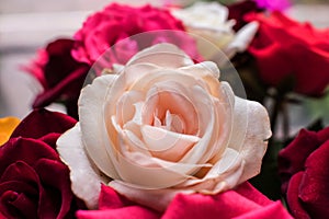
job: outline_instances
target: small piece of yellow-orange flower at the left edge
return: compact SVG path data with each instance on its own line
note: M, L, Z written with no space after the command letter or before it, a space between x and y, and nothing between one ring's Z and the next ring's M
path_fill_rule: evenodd
M0 147L9 140L20 122L19 118L12 116L0 118Z

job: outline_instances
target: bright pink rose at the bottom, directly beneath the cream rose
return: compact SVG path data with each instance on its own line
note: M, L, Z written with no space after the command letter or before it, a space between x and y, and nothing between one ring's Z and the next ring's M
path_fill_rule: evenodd
M185 219L185 218L292 218L280 201L272 201L249 183L235 191L217 195L177 195L164 212L139 206L118 195L110 186L102 186L99 210L79 210L79 219Z

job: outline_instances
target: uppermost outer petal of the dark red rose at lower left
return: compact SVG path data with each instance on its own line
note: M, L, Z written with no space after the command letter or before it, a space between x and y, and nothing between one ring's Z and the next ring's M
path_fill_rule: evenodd
M49 132L61 134L73 127L76 123L76 119L63 113L39 108L29 114L11 137L41 138Z

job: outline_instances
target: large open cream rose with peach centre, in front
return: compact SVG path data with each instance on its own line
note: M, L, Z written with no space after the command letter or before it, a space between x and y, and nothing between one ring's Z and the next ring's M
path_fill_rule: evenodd
M214 62L158 44L79 99L57 141L72 189L90 208L101 183L156 209L177 193L215 194L259 173L271 136L263 106L236 97Z

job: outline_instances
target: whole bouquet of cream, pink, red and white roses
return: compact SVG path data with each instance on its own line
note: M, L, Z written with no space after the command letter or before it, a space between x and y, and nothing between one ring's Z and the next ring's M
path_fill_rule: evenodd
M41 49L33 112L0 120L0 218L326 216L328 128L279 153L275 125L292 93L325 95L329 32L260 2L111 3Z

